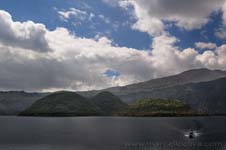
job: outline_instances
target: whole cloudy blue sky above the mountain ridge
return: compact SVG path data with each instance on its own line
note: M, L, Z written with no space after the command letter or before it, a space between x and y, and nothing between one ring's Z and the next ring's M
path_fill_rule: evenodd
M226 70L226 0L9 0L0 90L84 91Z

